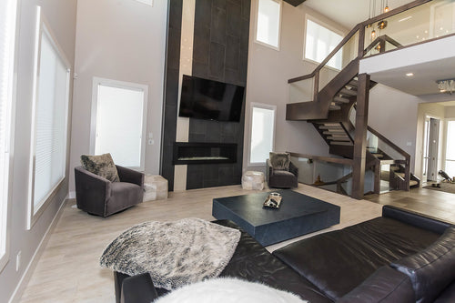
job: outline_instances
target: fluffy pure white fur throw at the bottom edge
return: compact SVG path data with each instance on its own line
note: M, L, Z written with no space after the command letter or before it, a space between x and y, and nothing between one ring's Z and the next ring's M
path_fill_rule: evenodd
M297 295L236 278L214 278L178 288L154 303L303 303Z

